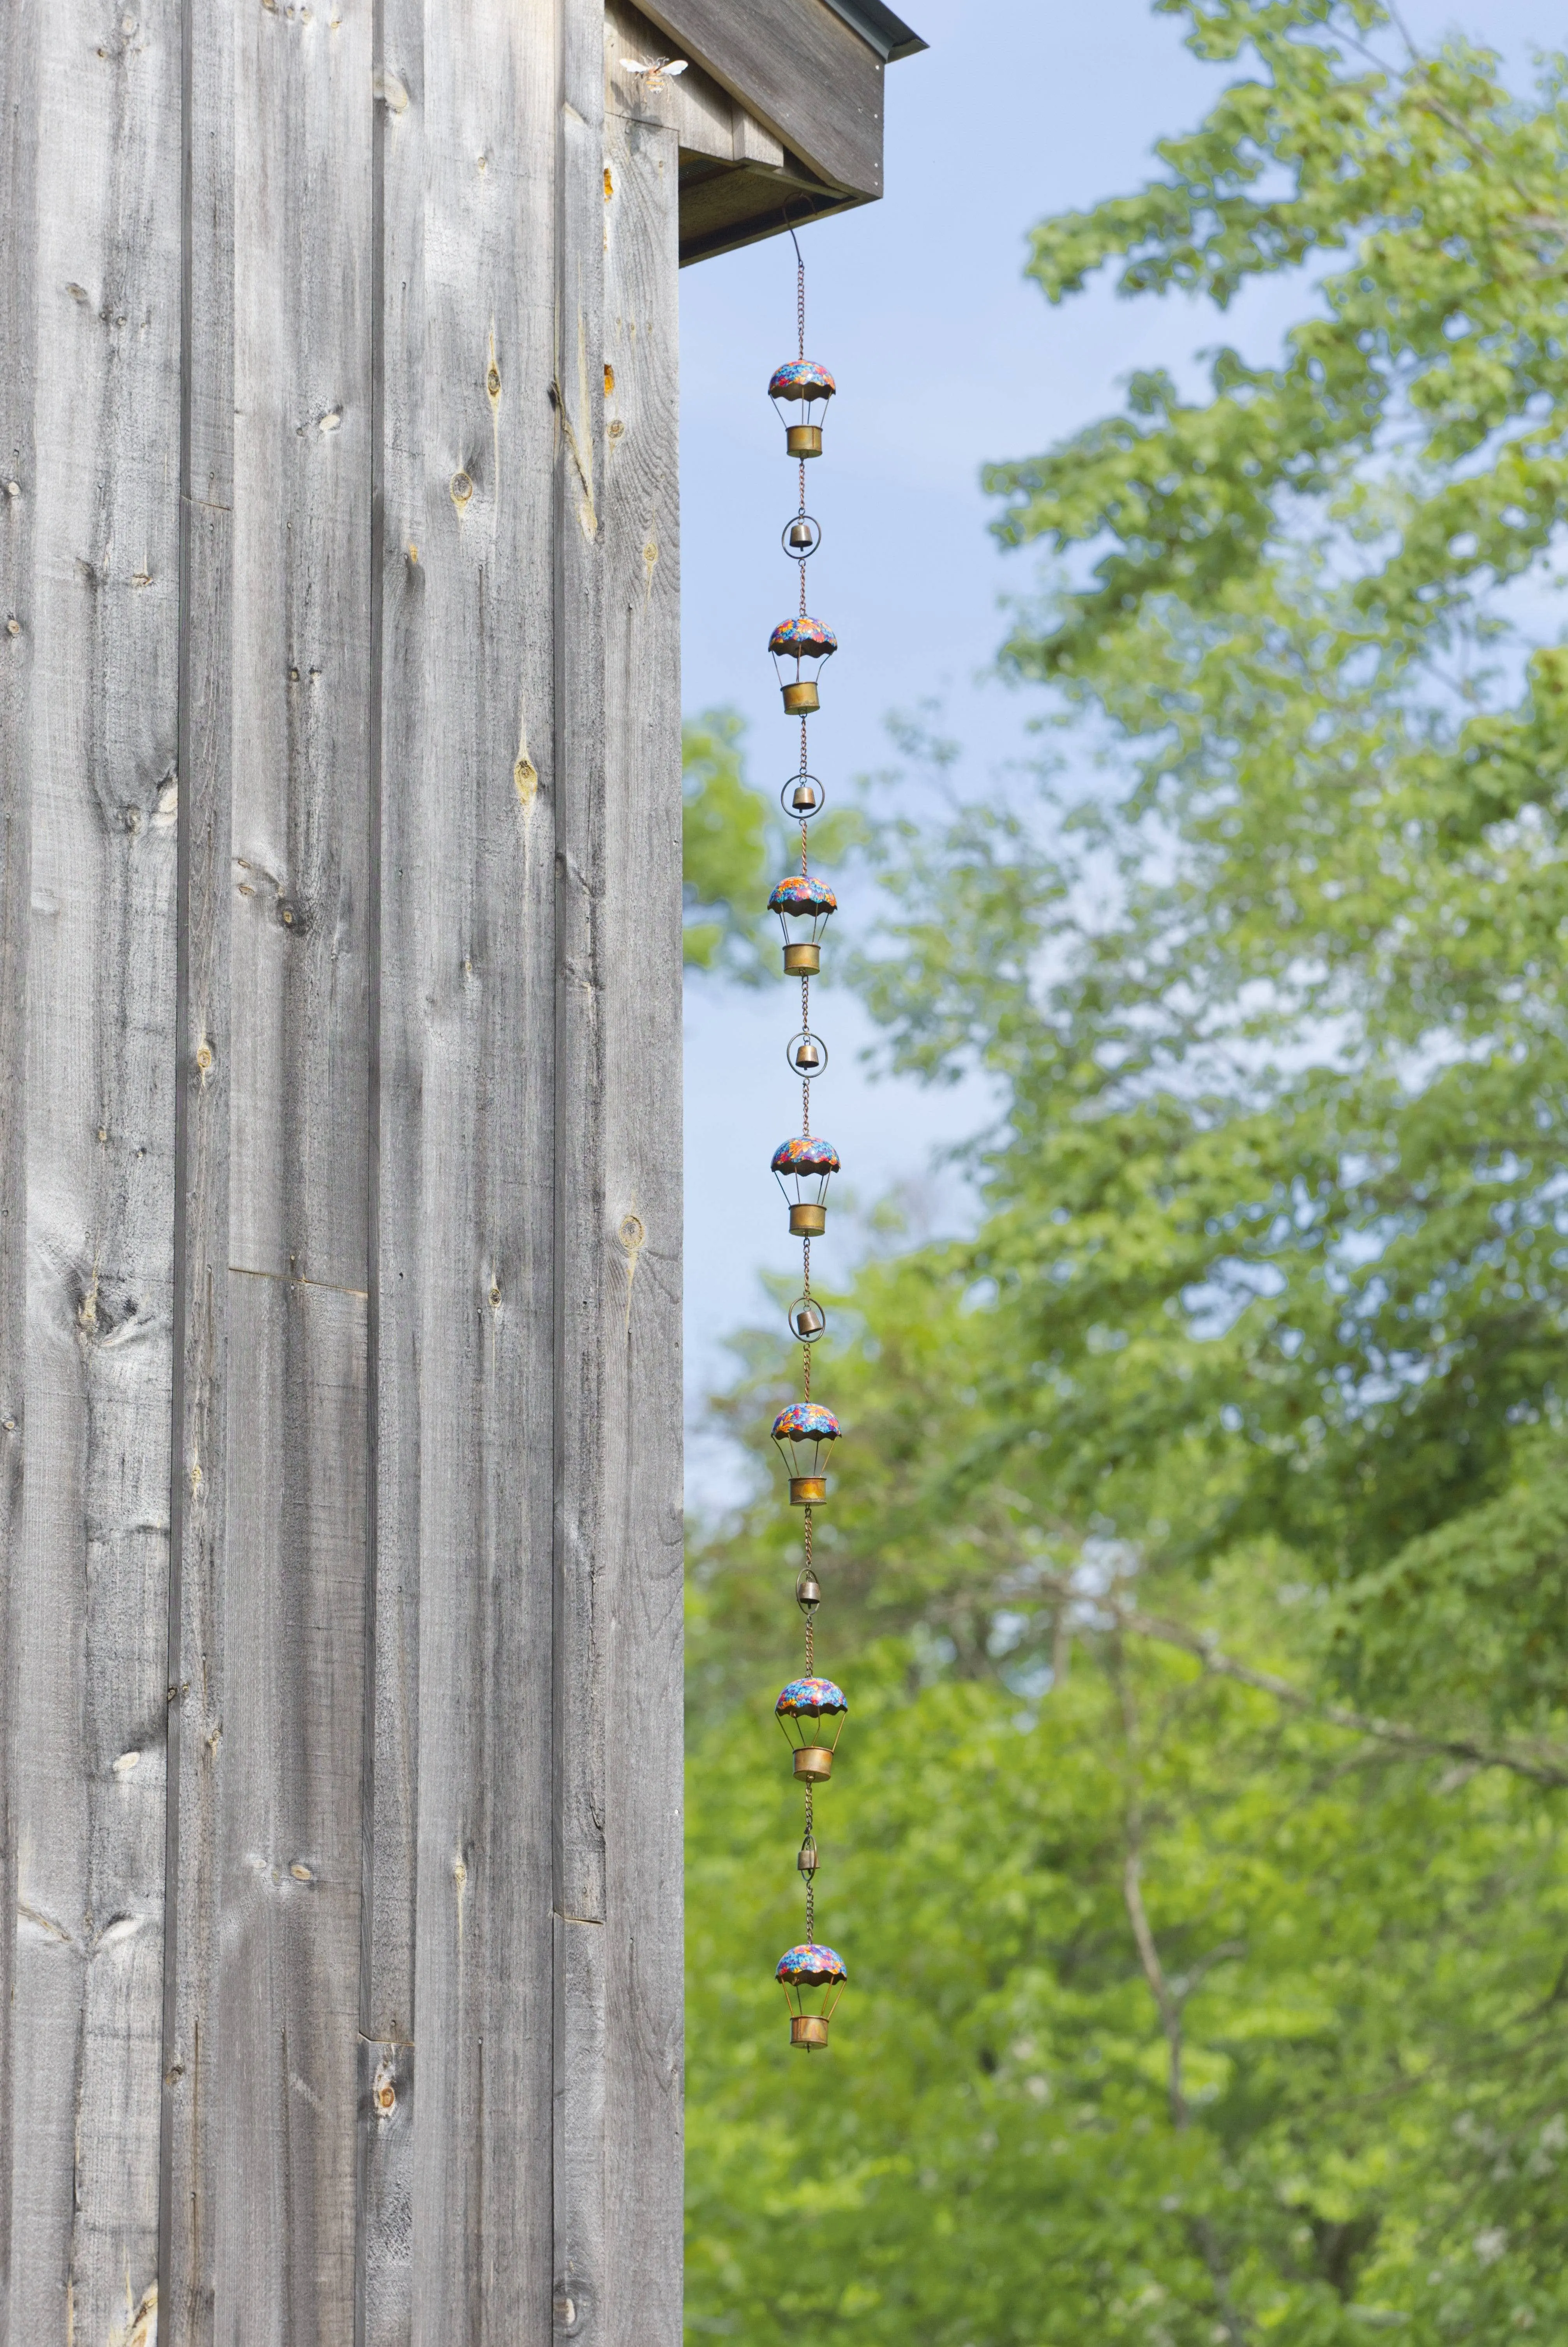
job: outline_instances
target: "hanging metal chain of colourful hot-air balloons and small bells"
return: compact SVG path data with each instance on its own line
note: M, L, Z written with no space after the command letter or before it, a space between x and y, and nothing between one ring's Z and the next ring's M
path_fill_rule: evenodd
M840 1427L831 1411L812 1401L812 1345L826 1328L826 1314L812 1296L812 1239L822 1237L829 1220L829 1181L838 1174L838 1150L831 1141L812 1134L812 1080L829 1063L826 1047L812 1035L812 979L822 969L822 932L838 911L833 890L810 866L810 826L826 803L826 791L810 770L807 721L822 706L817 678L822 667L838 650L838 638L822 620L805 610L805 566L822 545L822 528L805 512L805 462L822 455L822 425L812 422L812 408L833 397L833 378L826 366L805 357L805 263L796 244L796 329L798 352L779 366L768 385L768 397L784 422L784 446L798 462L800 505L784 526L784 552L798 566L800 608L791 620L779 620L768 650L772 652L779 688L784 692L784 716L800 718L800 765L786 779L779 800L784 814L800 824L800 871L779 880L768 911L779 915L784 932L784 976L800 979L800 1033L789 1042L786 1058L800 1077L800 1131L793 1141L782 1141L772 1152L772 1171L779 1178L789 1204L789 1230L800 1239L803 1279L800 1293L789 1307L789 1328L800 1340L800 1401L791 1404L772 1422L772 1439L789 1467L789 1497L800 1509L805 1561L796 1575L796 1605L805 1617L805 1678L791 1678L775 1704L779 1727L793 1746L796 1781L805 1791L805 1833L796 1866L805 1880L805 1939L789 1948L777 1964L777 1981L789 1997L789 2042L815 2051L829 2042L829 2018L845 1986L845 1964L833 1948L817 1939L817 1835L815 1800L817 1786L833 1774L833 1751L850 1709L843 1687L817 1676L817 1608L822 1584L812 1563L812 1514L829 1495L826 1453L838 1441ZM791 413L800 422L791 422ZM793 674L791 674L793 671Z

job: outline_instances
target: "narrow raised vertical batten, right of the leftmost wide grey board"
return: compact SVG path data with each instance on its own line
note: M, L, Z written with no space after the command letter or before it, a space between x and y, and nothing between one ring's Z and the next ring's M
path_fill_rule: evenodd
M218 2201L218 1753L228 1507L232 901L235 5L185 12L181 479L178 1411L171 1486L169 1943L160 2331L214 2338Z

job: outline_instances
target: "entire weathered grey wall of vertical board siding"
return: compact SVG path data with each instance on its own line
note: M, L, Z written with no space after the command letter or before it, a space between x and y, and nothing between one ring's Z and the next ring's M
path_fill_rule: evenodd
M681 2331L676 138L0 45L0 2338Z

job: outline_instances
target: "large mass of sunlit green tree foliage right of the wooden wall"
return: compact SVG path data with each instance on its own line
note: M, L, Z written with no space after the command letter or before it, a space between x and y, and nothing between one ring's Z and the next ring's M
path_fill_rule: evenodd
M817 1371L822 2061L777 1486L695 1561L692 2331L749 2347L1568 2338L1568 66L1164 12L1225 87L1033 275L1300 319L993 467L1005 662L1106 779L873 843L890 1054L1005 1120Z

